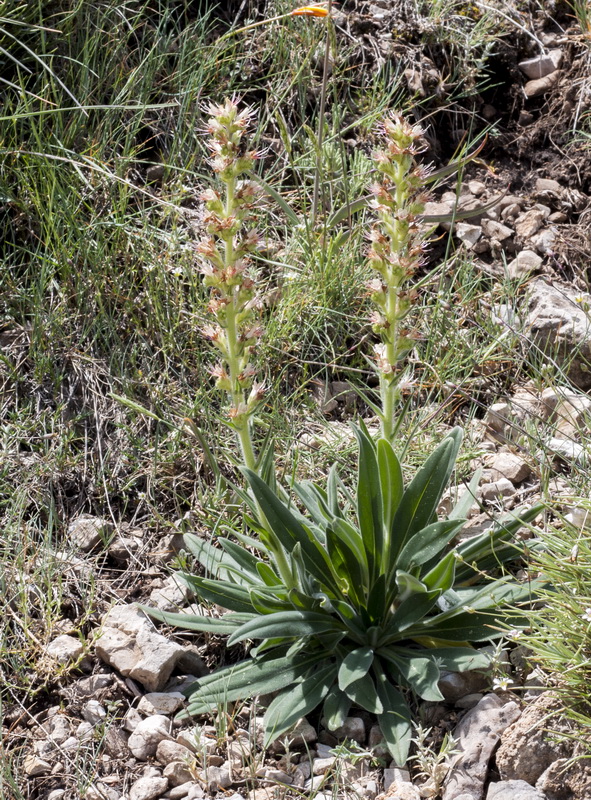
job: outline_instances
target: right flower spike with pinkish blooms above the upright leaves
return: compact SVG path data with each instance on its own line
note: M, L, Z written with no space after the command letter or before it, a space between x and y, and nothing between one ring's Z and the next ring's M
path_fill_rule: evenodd
M420 225L428 194L425 191L429 169L416 163L415 156L425 149L423 132L402 116L393 114L382 124L385 148L374 154L380 181L371 186L372 208L377 220L369 233L368 261L379 273L367 284L369 296L377 306L372 327L381 338L375 345L380 376L385 437L392 433L397 399L399 362L414 347L416 331L403 328L416 299L408 282L422 265L425 241Z

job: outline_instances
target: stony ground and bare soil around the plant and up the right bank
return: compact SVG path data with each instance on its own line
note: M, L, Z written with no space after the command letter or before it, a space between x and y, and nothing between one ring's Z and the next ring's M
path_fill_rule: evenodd
M395 5L376 0L337 11L337 25L374 63L396 52L389 33L394 19L400 24ZM496 86L480 98L479 113L498 122L502 134L487 152L488 166L471 164L459 200L456 192L440 193L427 214L487 209L444 228L492 281L512 279L519 287L512 305L490 305L498 337L517 336L542 354L551 348L572 390L540 390L535 382L513 386L472 423L480 453L473 466L483 472L471 533L491 525L493 515L538 499L542 462L553 473L552 495L567 518L583 525L586 516L572 500L569 471L584 468L591 456L591 399L584 394L591 389L591 151L567 151L565 135L589 107L590 51L578 29L552 15L533 14L532 24L542 52L527 37L508 37L495 61ZM428 55L418 53L415 61L406 79L420 96L433 91L441 73ZM433 144L435 152L439 146ZM461 387L449 392L461 396ZM312 436L306 432L305 443L347 436L339 419L348 403L342 382L322 386L318 404L328 425ZM543 456L518 443L525 429L544 442ZM568 734L571 723L518 641L496 654L495 671L446 675L445 702L424 704L428 743L439 744L450 732L455 744L445 762L427 758L422 774L416 761L409 771L390 763L379 728L365 712L340 731L302 720L266 753L259 747L255 703L215 720L178 722L183 689L215 667L223 643L204 637L192 643L157 629L134 603L190 608L193 598L167 566L182 546L180 533L147 541L131 523L115 530L82 516L71 522L68 536L71 547L61 557L73 610L39 665L44 691L32 704L15 700L4 716L4 747L21 753L22 782L32 800L591 797L591 768L571 760L579 755L578 743L551 732ZM96 582L95 610L77 606L80 581Z

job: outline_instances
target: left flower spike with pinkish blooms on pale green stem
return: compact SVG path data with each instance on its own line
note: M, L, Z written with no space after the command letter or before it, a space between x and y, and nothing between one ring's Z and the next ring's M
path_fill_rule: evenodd
M217 387L230 396L229 417L240 437L244 463L252 468L255 459L249 419L264 393L263 385L254 380L255 369L250 364L250 355L262 334L258 324L262 303L250 275L250 255L259 244L256 231L250 227L259 190L243 177L256 158L244 146L252 111L239 111L233 99L208 111L210 163L223 189L207 189L202 196L208 235L197 245L197 252L204 283L211 288L209 311L215 318L202 333L220 353L212 374Z

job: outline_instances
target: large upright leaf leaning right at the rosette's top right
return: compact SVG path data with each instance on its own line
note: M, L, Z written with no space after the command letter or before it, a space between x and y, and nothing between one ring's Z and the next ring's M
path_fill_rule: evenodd
M449 482L461 443L462 431L455 428L407 486L392 523L393 562L409 538L431 523Z

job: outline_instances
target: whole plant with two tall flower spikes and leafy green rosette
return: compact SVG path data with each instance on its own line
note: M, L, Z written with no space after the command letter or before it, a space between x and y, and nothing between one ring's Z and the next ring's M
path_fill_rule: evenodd
M504 564L521 554L513 537L539 508L454 546L478 481L477 475L448 517L438 519L462 441L459 428L404 484L391 442L393 398L398 362L412 341L399 326L412 302L406 283L421 263L427 172L414 161L420 131L396 116L384 123L386 147L376 157L382 179L372 188L378 221L369 251L380 276L370 291L382 338L382 435L374 441L363 424L355 429L354 493L333 467L326 487L293 484L296 505L272 476L267 481L257 472L248 421L261 389L253 383L249 355L260 328L253 327L257 303L247 275L256 236L246 227L255 190L239 180L253 162L242 148L247 120L248 112L232 101L212 109L212 164L225 194L205 195L209 238L199 252L216 319L206 335L221 354L214 374L232 403L249 485L248 492L238 492L254 535L232 529L231 536L218 538L219 547L185 537L205 577L179 572L177 578L202 601L224 609L222 616L145 611L188 630L229 634L229 646L257 643L244 661L190 687L182 716L275 693L265 714L269 744L318 706L334 730L357 705L377 715L392 756L403 765L411 741L409 698L443 699L442 668L486 668L489 657L476 645L501 636L509 617L514 627L524 624L507 606L529 600L532 584L512 579Z

